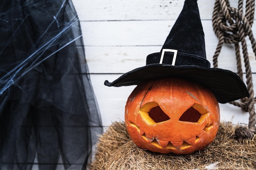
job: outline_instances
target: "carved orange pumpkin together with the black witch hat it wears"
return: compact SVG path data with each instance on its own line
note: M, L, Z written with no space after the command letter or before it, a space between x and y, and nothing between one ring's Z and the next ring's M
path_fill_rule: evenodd
M197 0L185 0L161 51L149 54L146 66L104 84L138 85L126 103L128 133L140 148L161 153L188 154L209 145L218 131L218 102L249 97L236 73L210 67Z

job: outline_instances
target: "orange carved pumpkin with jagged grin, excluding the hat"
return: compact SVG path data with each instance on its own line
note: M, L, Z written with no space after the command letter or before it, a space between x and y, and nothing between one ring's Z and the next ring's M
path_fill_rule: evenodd
M211 91L178 78L140 83L125 108L132 141L160 153L201 150L215 139L219 121L218 102Z

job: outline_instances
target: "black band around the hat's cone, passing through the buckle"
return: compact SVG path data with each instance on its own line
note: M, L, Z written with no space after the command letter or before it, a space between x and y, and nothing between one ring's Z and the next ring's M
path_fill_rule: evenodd
M169 64L174 66L201 66L205 68L210 68L211 64L208 60L203 57L198 57L196 55L180 53L177 52L177 56L173 52L164 52L162 53L152 53L147 56L146 64ZM173 59L174 64L173 64ZM162 61L161 61L162 60Z

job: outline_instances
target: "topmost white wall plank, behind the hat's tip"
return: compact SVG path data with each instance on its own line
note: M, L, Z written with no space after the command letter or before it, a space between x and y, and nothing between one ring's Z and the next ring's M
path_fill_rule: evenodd
M176 20L184 0L73 0L73 3L81 21ZM214 3L215 0L198 0L202 20L211 20ZM230 1L230 5L237 8L238 0Z

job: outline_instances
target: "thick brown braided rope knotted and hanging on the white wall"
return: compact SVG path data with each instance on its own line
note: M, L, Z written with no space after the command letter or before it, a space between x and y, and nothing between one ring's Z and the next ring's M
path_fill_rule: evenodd
M224 43L234 44L236 52L236 64L239 77L243 80L242 61L240 56L240 45L243 53L243 62L245 64L246 84L250 96L241 99L240 102L233 101L230 104L241 107L243 110L249 112L248 128L251 135L246 137L253 137L256 134L256 113L254 104L254 90L252 83L252 71L249 62L249 55L247 51L247 44L245 38L248 36L252 50L256 57L256 42L252 33L252 24L254 21L255 0L246 0L245 15L243 14L243 0L238 1L238 9L230 7L229 0L216 0L213 9L213 31L218 37L218 45L215 54L213 55L213 67L218 67L218 56ZM236 133L239 134L238 128ZM240 134L245 132L240 132Z

